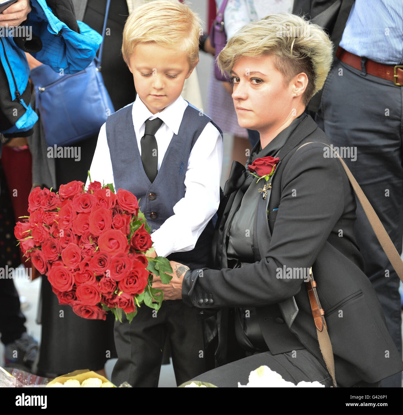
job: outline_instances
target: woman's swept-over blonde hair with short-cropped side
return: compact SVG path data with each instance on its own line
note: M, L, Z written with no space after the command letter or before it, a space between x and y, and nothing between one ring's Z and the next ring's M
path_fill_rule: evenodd
M269 15L251 22L232 36L218 55L222 73L230 72L241 56L273 54L274 66L288 85L298 73L308 76L303 104L325 83L332 64L333 44L321 27L290 13Z

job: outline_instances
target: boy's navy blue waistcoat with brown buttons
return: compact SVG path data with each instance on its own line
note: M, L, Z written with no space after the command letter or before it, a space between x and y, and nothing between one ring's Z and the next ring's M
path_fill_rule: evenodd
M159 229L174 214L173 206L184 197L189 155L208 122L212 122L222 134L220 128L207 115L190 104L186 107L178 134L173 134L158 174L151 183L144 172L137 146L132 105L107 118L106 137L116 190L129 190L137 197L151 232ZM203 200L195 200L195 203L203 203ZM213 232L214 227L210 220L192 251L176 252L168 258L190 268L208 266Z

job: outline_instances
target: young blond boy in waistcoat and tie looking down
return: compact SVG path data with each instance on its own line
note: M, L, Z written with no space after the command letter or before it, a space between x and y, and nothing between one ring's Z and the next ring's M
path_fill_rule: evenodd
M180 96L198 63L199 35L197 15L176 0L150 2L129 16L122 53L138 95L101 128L90 168L93 180L140 199L157 255L192 269L208 265L222 166L220 129ZM112 382L158 386L166 336L178 384L206 370L198 310L164 301L157 315L143 306L131 324L115 324Z

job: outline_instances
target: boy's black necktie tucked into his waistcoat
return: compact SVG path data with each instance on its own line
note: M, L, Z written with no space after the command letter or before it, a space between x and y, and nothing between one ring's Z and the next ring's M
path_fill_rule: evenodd
M151 183L154 182L158 172L158 147L155 133L161 127L162 123L163 121L159 118L147 120L144 136L140 140L144 171Z

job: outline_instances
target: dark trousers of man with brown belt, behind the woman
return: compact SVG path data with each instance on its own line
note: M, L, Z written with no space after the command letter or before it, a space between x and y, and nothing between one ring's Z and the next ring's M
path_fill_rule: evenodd
M403 89L335 60L323 88L319 126L334 146L354 151L344 161L364 191L399 254L403 239ZM402 352L400 280L357 201L354 227L386 324ZM401 387L401 373L382 381Z

